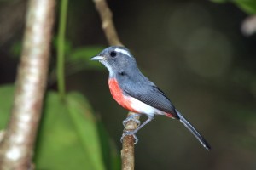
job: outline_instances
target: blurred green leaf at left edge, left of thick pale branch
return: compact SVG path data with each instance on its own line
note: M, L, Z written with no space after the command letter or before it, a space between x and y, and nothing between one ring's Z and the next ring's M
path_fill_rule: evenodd
M14 98L14 89L13 84L0 87L0 130L7 125Z

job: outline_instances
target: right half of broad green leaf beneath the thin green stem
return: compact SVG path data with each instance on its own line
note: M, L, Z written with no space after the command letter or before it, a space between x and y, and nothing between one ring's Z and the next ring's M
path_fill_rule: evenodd
M67 109L76 132L79 134L84 151L90 156L90 161L95 169L104 169L96 119L92 115L88 101L81 94L68 94Z

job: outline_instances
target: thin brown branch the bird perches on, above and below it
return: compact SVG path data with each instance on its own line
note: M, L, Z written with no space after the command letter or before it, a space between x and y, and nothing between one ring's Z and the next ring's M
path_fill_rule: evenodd
M102 29L107 37L108 43L110 45L122 45L119 41L118 34L115 30L112 20L112 12L108 8L108 4L105 0L93 0L96 4L96 9L101 15L102 19ZM128 116L134 114L132 112L128 113ZM127 122L125 125L125 130L135 130L137 128L136 122ZM134 138L133 136L125 136L123 139L123 149L121 150L122 159L122 170L133 170L134 169Z

